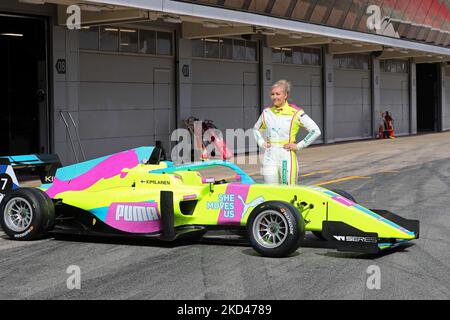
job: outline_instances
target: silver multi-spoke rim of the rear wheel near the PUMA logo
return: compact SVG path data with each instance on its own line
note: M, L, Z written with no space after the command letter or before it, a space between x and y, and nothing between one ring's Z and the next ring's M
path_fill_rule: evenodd
M4 220L6 226L14 232L23 232L33 220L31 204L24 198L14 198L5 206Z

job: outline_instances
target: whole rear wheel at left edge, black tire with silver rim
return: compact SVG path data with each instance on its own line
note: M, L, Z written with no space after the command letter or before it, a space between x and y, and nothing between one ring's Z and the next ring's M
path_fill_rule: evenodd
M0 204L0 225L14 240L36 240L53 228L55 208L49 196L37 188L20 188Z

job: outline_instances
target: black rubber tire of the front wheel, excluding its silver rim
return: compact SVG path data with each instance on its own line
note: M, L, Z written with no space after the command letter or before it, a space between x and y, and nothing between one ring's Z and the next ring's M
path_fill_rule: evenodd
M253 225L256 218L265 211L277 211L286 219L288 233L283 243L275 248L262 246L253 234ZM283 201L268 201L260 204L251 212L247 221L247 234L250 242L259 254L266 257L281 258L287 257L298 249L300 242L305 237L305 222L298 210L290 203Z

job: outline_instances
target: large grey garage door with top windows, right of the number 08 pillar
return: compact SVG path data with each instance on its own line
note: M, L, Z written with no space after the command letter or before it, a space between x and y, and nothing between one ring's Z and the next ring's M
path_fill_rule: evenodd
M90 32L92 38L84 42L80 36L79 54L78 117L86 156L154 145L156 140L170 152L175 128L172 33L118 27Z

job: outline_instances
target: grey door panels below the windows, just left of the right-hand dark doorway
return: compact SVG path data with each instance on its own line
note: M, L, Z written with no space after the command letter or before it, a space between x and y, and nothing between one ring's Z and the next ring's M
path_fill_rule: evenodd
M381 72L381 112L388 110L394 118L396 135L409 134L409 90L407 73ZM380 114L376 115L381 122Z

